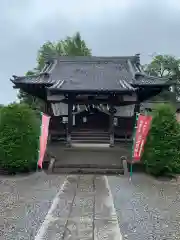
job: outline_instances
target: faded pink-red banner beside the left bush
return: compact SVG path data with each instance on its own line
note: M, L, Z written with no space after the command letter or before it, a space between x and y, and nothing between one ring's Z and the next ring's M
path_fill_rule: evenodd
M50 120L49 116L44 115L44 114L42 115L40 149L39 149L39 159L38 159L38 166L40 168L42 168L44 154L46 151L46 145L47 145L47 140L48 140L48 131L49 131L49 120Z

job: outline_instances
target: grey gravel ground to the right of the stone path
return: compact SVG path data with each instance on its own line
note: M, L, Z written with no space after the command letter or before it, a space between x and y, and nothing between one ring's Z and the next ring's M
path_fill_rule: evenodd
M129 240L180 239L180 183L134 174L108 177L121 233Z

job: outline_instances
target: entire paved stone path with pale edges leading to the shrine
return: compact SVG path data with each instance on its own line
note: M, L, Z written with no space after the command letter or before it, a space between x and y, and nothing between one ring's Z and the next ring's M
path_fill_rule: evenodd
M121 240L107 177L68 176L35 240Z

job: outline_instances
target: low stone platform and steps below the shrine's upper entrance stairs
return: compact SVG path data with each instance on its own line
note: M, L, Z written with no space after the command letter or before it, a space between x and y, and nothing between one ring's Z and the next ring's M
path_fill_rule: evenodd
M54 159L50 170L54 174L91 173L116 175L124 173L122 156L126 156L127 160L130 159L132 144L117 143L113 148L104 147L103 144L99 144L98 147L93 147L92 144L88 145L85 147L79 144L78 147L72 146L69 148L59 142L51 143L46 152L43 169L46 171L49 168L51 159Z

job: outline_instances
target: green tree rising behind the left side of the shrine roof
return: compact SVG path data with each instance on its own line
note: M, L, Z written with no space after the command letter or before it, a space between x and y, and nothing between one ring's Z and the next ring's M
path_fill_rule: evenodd
M26 75L34 75L42 71L46 60L58 56L89 56L91 50L87 47L85 41L81 38L79 32L72 37L66 37L64 40L57 42L47 41L38 51L37 66L33 71L28 71ZM31 107L37 107L39 101L29 94L20 90L18 98L20 102L27 103Z

